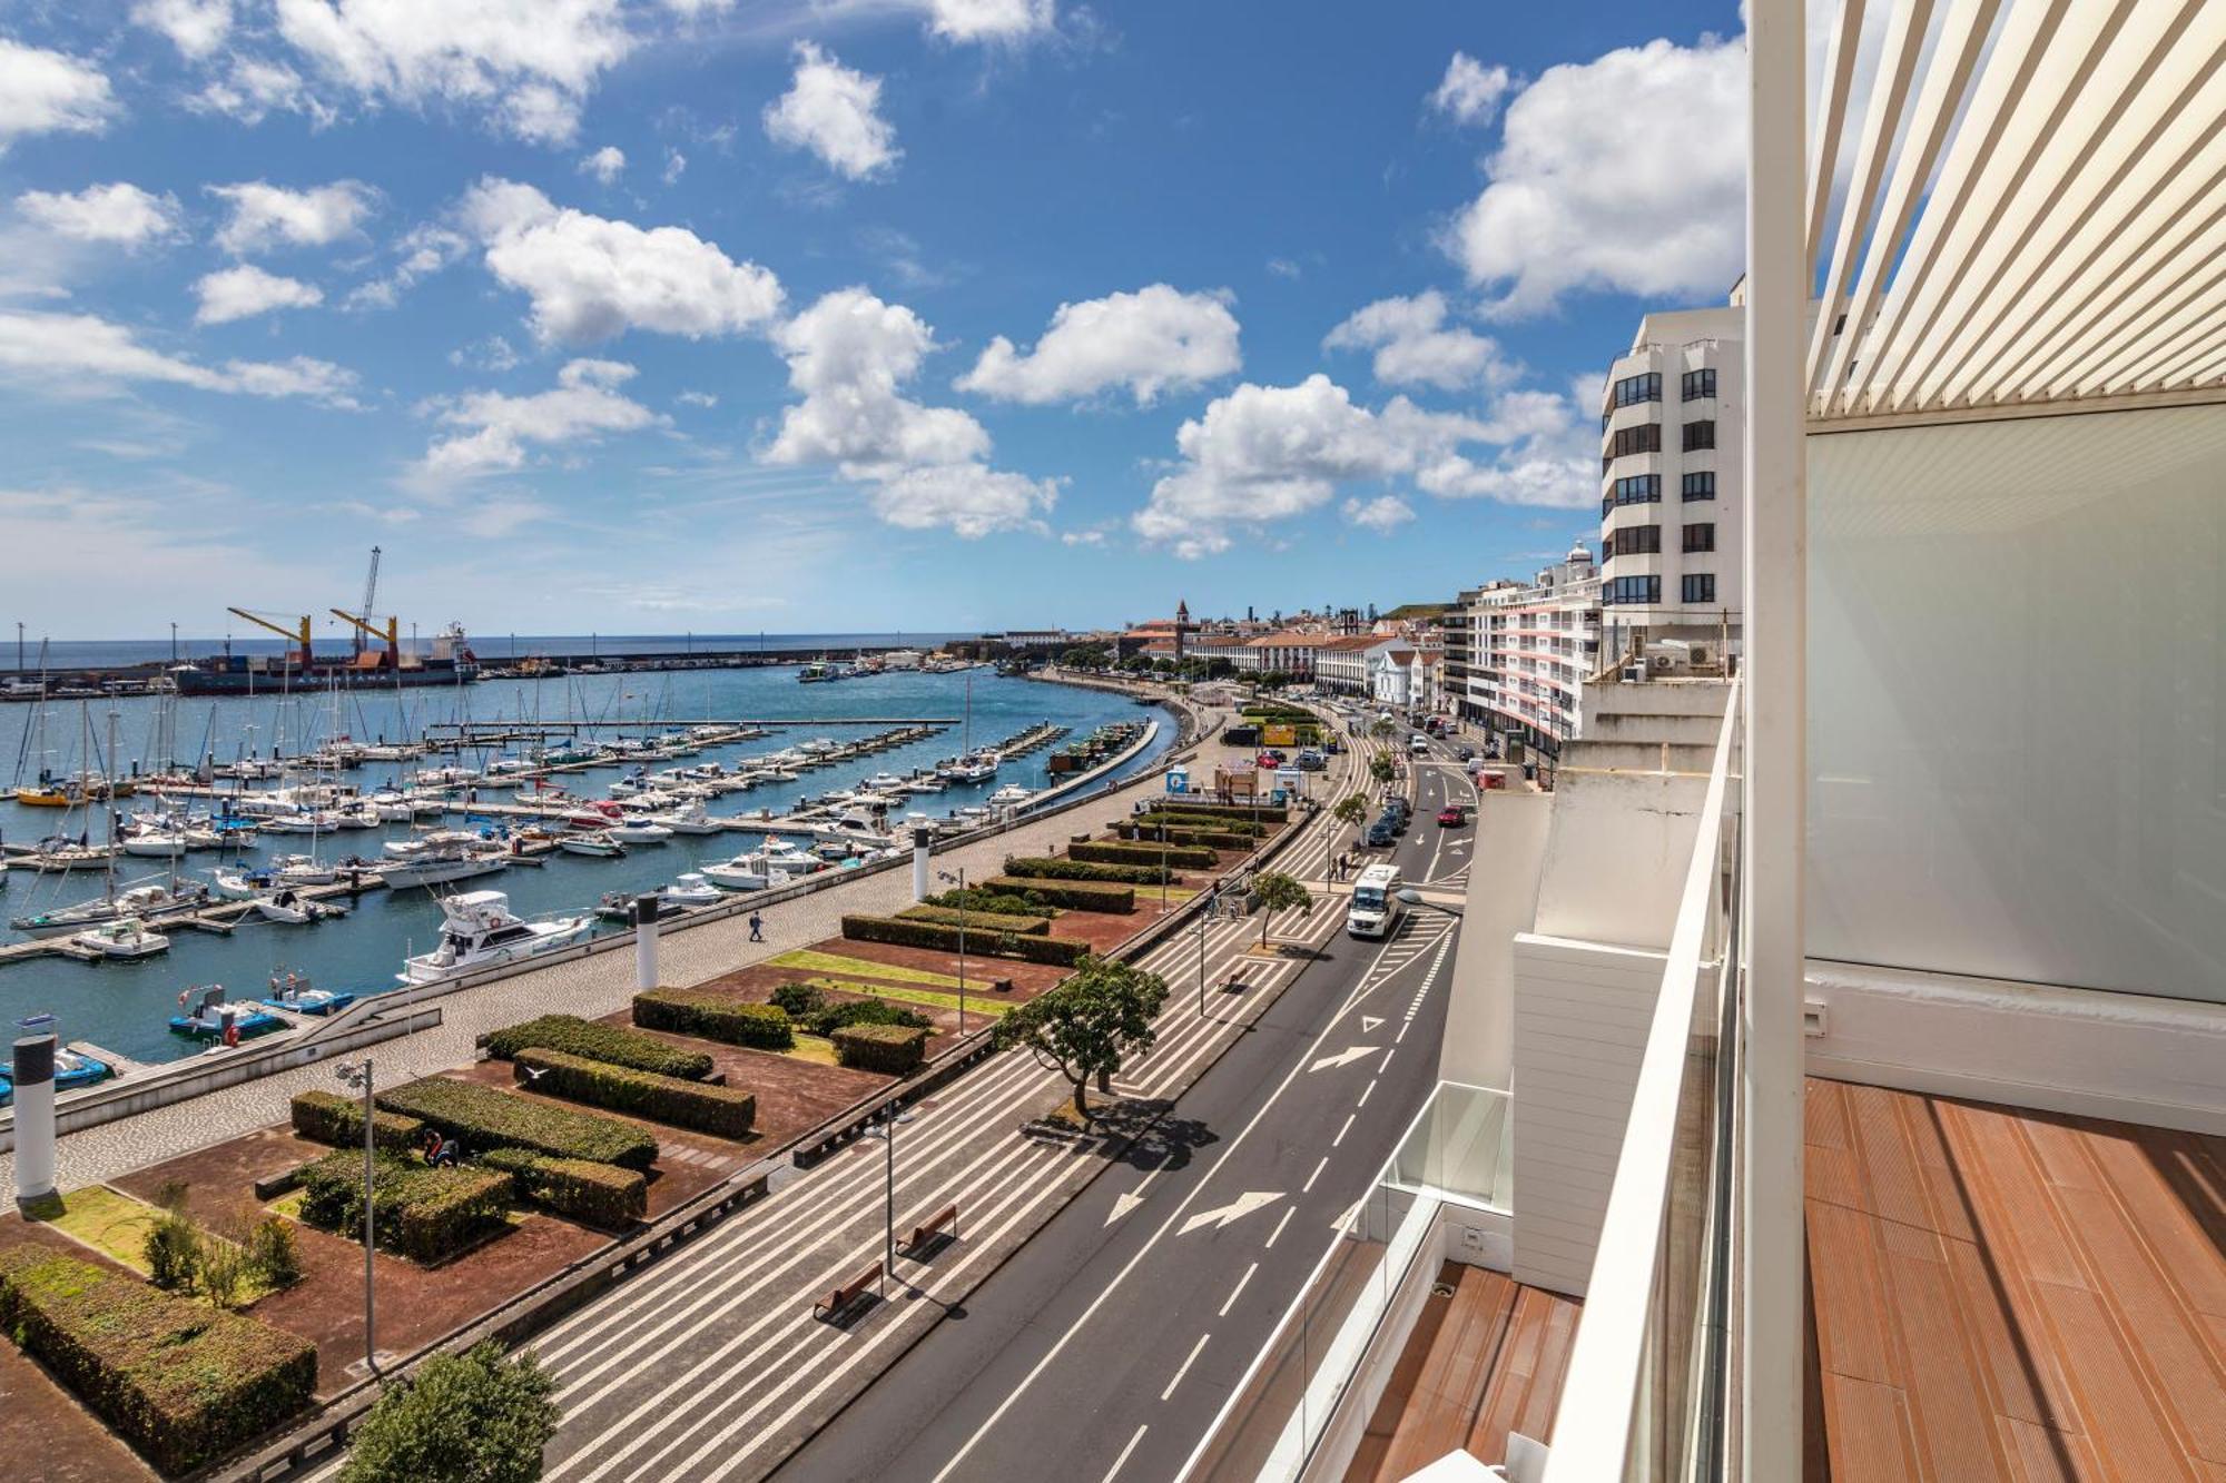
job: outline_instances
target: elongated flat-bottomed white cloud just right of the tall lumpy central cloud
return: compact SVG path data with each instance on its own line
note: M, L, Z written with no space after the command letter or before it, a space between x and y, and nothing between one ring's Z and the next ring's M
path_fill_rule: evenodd
M957 385L1026 403L1129 387L1142 407L1162 390L1229 376L1242 363L1238 318L1227 303L1153 283L1135 294L1062 303L1026 354L999 334Z

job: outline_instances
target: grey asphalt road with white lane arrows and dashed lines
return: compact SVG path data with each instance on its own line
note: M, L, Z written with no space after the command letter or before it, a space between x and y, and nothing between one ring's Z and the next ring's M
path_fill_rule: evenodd
M1442 750L1414 773L1407 837L1360 857L1458 893L1474 824L1436 813L1474 786ZM781 1481L1175 1479L1436 1084L1456 920L1356 942L1333 915L1327 957L1175 1104L1189 1156L1089 1185Z

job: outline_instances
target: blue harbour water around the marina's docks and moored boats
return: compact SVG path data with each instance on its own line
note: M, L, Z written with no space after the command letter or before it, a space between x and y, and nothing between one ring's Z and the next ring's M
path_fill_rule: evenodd
M971 684L968 684L971 681ZM352 735L361 739L398 739L418 735L432 721L525 721L534 717L543 726L556 728L563 719L648 721L661 728L670 721L701 719L788 719L806 717L812 724L786 728L772 737L741 742L706 750L688 762L719 759L732 766L741 757L764 755L806 742L810 737L846 739L859 737L879 726L861 717L888 719L951 719L953 726L939 735L910 746L846 762L833 768L806 773L795 784L770 784L748 793L730 793L710 804L712 813L755 813L772 808L786 813L804 795L819 795L846 788L879 770L908 773L951 757L962 750L964 717L971 693L971 739L975 744L999 742L1037 721L1071 726L1077 735L1106 721L1131 721L1140 717L1164 719L1164 713L1144 710L1133 701L1100 690L1080 690L1057 684L1026 679L1004 679L991 670L966 675L881 675L868 679L846 679L837 684L799 686L792 666L764 670L681 670L659 675L585 675L572 679L543 681L483 681L450 690L403 690L387 695L329 695L312 697L218 697L176 699L165 708L156 699L120 701L58 701L53 706L0 706L0 762L13 762L22 775L36 775L40 766L58 773L76 770L85 755L87 733L96 757L107 757L105 737L109 713L116 724L116 755L122 768L147 766L158 759L162 733L178 737L180 757L214 753L220 762L238 757L243 750L269 753L283 746L287 755L305 750L325 737ZM45 717L45 719L42 719ZM641 726L634 726L641 730ZM1131 764L1146 766L1153 755L1171 744L1171 726L1162 726L1151 755ZM610 737L612 730L594 735ZM946 813L959 804L979 802L1002 784L1046 786L1046 759L1051 748L1006 764L997 779L975 788L953 786L946 793L924 795L915 802L922 813ZM496 753L472 753L472 762L483 764ZM432 757L423 766L439 766ZM396 779L418 764L367 764L345 775L363 790ZM657 764L674 766L674 764ZM597 795L614 777L617 768L594 768L570 773L559 782L574 795ZM508 793L494 795L508 799ZM134 799L122 799L131 808ZM450 822L456 822L454 815ZM0 802L0 837L29 842L58 826L58 813L49 808L20 808ZM69 817L69 828L85 828L82 813ZM96 837L105 837L107 819L96 811L91 819ZM383 839L396 839L405 826L376 831L347 831L336 837L321 837L318 853L325 860L343 855L376 857ZM510 893L512 911L521 915L581 911L594 906L605 891L648 891L666 884L683 871L695 871L701 862L728 860L757 848L759 835L748 831L726 831L719 835L677 835L670 844L630 848L623 860L590 860L583 855L552 855L543 866L512 866L496 875L483 875L467 888L494 888ZM272 835L247 860L274 853L307 848L307 835ZM194 853L185 857L187 873L205 873L218 864L216 853ZM156 868L160 866L160 868ZM127 880L167 875L167 866L154 860L118 860L118 875ZM87 900L100 893L98 873L33 875L29 871L7 871L0 880L0 920L49 911L53 906ZM171 933L171 951L142 962L80 964L67 957L38 957L29 962L0 964L0 1027L11 1027L29 1013L51 1011L60 1015L65 1040L93 1040L138 1060L171 1060L198 1047L167 1031L167 1018L176 1011L178 991L196 984L220 982L232 998L256 998L269 975L280 969L307 973L325 989L387 989L401 962L412 951L427 951L439 935L441 909L432 893L374 891L363 895L345 920L312 926L278 926L267 922L243 922L229 937L214 933ZM16 933L0 931L0 940L18 940Z

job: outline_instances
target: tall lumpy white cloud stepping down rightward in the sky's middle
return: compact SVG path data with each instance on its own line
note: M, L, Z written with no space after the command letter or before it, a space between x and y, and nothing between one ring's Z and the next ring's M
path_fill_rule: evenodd
M766 463L833 463L868 485L875 514L908 530L977 539L1042 528L1055 481L988 468L982 423L904 394L935 350L935 332L908 307L835 289L781 325L775 343L804 401L781 414Z

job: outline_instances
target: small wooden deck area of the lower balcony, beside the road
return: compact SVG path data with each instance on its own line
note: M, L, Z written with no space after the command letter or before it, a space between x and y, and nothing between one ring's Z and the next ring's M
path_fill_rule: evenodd
M1416 1318L1347 1483L1396 1483L1456 1447L1498 1463L1509 1432L1549 1441L1580 1305L1460 1263L1438 1280L1454 1296Z

